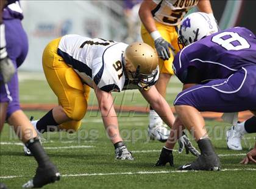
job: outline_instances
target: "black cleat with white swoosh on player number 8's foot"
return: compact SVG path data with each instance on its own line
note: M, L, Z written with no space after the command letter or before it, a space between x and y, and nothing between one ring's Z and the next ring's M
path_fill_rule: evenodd
M221 170L221 162L216 154L208 156L201 154L194 162L182 165L178 169L182 171L219 171Z

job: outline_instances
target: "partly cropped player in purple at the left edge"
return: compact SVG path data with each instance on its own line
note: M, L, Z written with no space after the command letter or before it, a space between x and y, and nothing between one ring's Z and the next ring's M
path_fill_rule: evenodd
M37 160L38 167L34 178L24 184L23 187L43 187L43 185L59 180L60 173L51 160L49 160L48 155L39 142L37 131L35 131L29 119L27 119L20 108L17 68L25 60L28 50L27 35L21 25L23 12L20 2L7 1L7 4L2 5L0 128L4 126L5 120L9 125L12 125L17 135L34 154L35 160ZM5 43L2 44L3 42ZM3 67L4 69L2 69ZM7 73L10 71L9 68L13 69L13 67L15 70L14 74L12 72Z

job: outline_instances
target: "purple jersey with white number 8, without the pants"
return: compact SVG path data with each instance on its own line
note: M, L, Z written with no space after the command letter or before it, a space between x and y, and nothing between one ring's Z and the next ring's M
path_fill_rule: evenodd
M174 58L174 72L184 80L188 66L201 70L202 80L227 78L241 67L256 65L256 36L244 27L223 30L183 48Z

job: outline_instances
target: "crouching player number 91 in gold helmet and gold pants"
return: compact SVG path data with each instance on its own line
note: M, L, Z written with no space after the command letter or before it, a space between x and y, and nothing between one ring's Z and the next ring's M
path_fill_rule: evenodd
M115 146L116 159L133 160L133 157L119 134L112 91L139 89L167 125L174 123L168 103L154 86L159 75L158 57L148 44L128 46L101 38L66 35L46 46L43 69L59 106L33 122L38 132L47 132L48 126L77 131L87 112L90 88L98 99L105 129Z

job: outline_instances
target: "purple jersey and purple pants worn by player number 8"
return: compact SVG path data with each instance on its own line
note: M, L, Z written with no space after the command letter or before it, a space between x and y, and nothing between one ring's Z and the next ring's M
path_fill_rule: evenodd
M190 66L196 67L204 84L180 92L174 105L199 111L256 110L256 36L250 30L223 30L183 48L173 63L182 83Z

